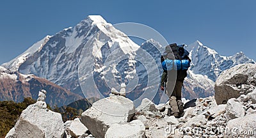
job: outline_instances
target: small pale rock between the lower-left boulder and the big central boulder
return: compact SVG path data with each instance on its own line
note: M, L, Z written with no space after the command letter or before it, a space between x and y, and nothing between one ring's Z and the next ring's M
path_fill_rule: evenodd
M79 118L76 118L73 121L67 121L65 125L66 124L68 124L66 131L68 131L68 134L71 137L79 137L88 131L88 128L86 128L83 123L81 123Z

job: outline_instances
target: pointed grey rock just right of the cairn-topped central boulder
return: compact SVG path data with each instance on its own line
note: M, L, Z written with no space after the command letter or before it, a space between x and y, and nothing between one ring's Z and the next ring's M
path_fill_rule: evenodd
M156 105L148 98L144 98L141 101L141 104L136 108L136 111L141 112L146 117L162 116L161 112L156 108Z

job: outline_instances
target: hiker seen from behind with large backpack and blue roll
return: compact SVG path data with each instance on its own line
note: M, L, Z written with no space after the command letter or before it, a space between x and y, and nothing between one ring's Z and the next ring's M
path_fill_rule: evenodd
M172 115L175 118L179 118L184 114L181 90L190 62L189 52L184 49L184 44L177 45L176 43L172 43L166 46L166 50L163 56L161 56L161 63L164 70L161 77L161 90L169 96L169 105L171 107L168 110L168 116ZM175 83L175 85L172 86L172 83Z

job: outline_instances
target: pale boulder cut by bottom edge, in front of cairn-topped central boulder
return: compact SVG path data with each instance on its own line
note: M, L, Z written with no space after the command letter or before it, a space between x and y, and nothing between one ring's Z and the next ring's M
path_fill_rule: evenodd
M115 123L108 128L105 135L106 138L115 137L145 137L145 126L136 119L130 123L118 124Z

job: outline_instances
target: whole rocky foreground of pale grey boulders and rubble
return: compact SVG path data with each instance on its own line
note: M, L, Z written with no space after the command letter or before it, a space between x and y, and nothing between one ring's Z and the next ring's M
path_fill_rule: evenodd
M41 91L38 102L22 112L6 137L256 137L256 84L252 81L255 66L235 68L247 71L235 74L230 70L233 79L223 77L228 74L224 72L220 78L226 81L216 87L243 88L238 96L230 94L232 89L225 89L221 91L228 93L221 98L224 104L217 104L214 96L184 101L186 109L181 118L166 116L168 104L155 105L145 98L135 108L129 98L109 95L95 102L80 118L63 123L59 113L45 108ZM243 84L228 82L237 76L243 77Z

